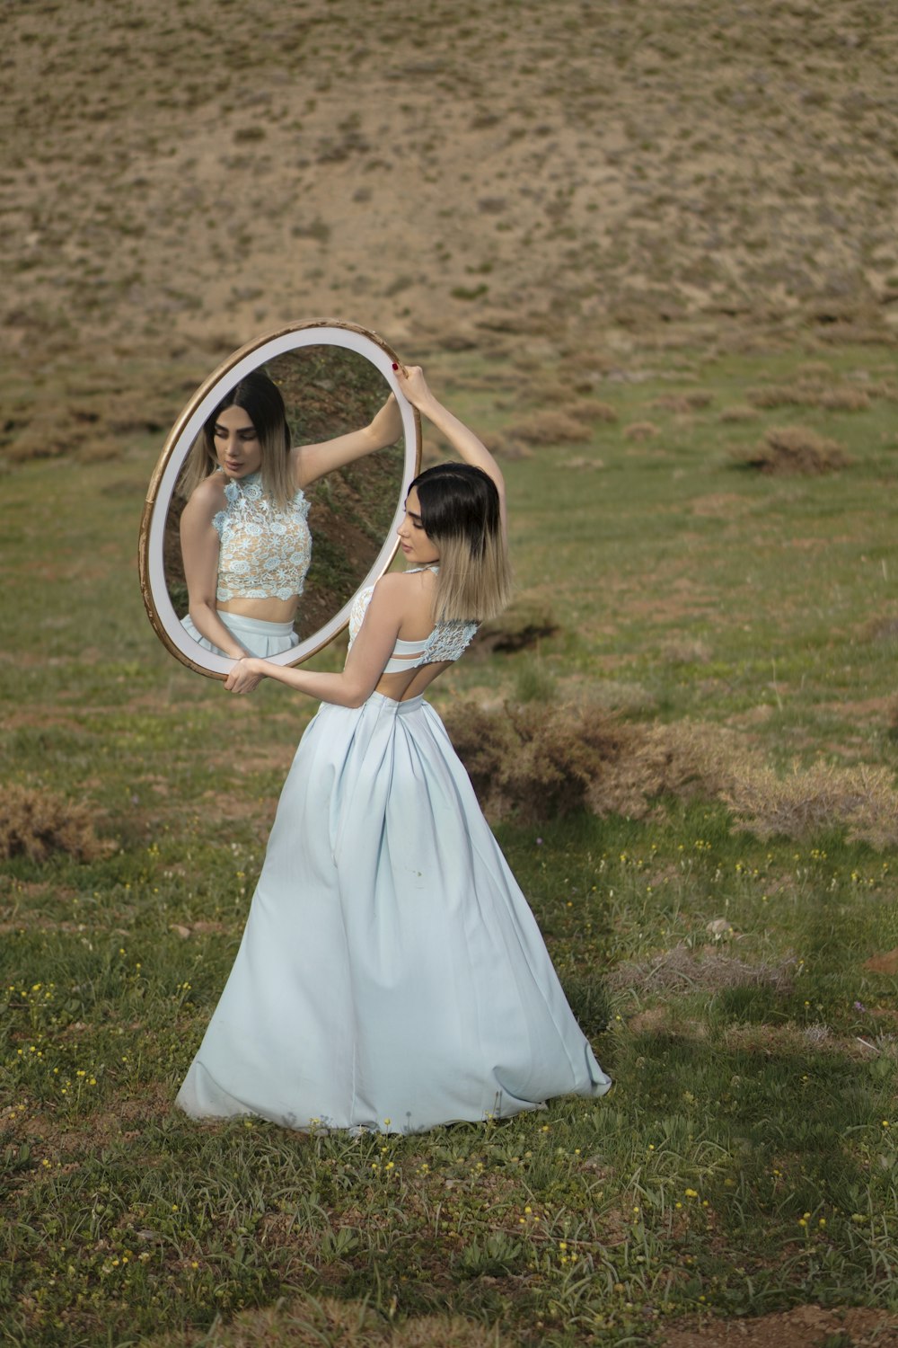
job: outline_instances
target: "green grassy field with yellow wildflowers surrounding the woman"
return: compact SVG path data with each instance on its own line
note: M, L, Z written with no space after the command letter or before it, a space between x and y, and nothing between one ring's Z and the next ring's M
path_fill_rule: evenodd
M806 1304L868 1314L780 1341L898 1341L893 371L810 341L439 357L505 445L518 608L555 632L434 701L622 728L638 807L599 774L540 817L536 767L497 806L613 1093L423 1136L172 1111L314 708L234 704L155 642L159 437L4 476L5 1343L716 1344ZM844 466L750 466L789 427ZM650 735L699 768L653 776Z

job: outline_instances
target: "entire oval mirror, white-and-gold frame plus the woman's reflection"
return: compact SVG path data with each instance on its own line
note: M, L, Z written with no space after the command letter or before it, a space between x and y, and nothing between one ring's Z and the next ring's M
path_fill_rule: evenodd
M378 337L354 325L295 325L236 352L180 414L149 484L139 559L149 620L183 663L223 678L241 642L250 648L237 635L237 620L248 617L250 627L258 620L272 632L280 627L280 644L271 647L279 654L260 654L298 663L346 625L354 596L386 569L420 462L420 422L399 392L394 360ZM257 404L253 417L246 411L246 386L271 400L267 418ZM256 421L269 427L261 446ZM272 461L281 465L283 507L271 495ZM281 547L284 528L291 541ZM276 546L268 547L272 537ZM279 565L269 554L288 563L285 573L256 590L250 580L244 592L246 570ZM293 586L302 589L299 603ZM191 635L199 638L191 611L207 632L203 644ZM209 640L215 624L221 646Z

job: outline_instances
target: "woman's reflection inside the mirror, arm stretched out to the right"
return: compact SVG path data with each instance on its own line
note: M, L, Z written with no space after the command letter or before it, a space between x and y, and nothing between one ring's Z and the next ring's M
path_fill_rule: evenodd
M195 642L218 655L279 655L312 555L304 488L399 439L390 395L369 426L291 449L284 399L263 371L245 375L197 438L182 492L180 550Z

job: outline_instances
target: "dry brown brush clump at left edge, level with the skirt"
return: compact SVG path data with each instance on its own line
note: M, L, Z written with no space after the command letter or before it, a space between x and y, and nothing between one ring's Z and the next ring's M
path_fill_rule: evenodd
M27 856L44 861L65 852L77 861L96 861L116 844L98 838L85 805L31 786L7 786L0 803L0 857Z

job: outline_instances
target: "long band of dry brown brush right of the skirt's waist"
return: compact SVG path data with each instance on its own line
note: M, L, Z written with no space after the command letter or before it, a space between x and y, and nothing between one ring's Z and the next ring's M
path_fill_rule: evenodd
M486 814L541 822L575 810L645 818L662 797L716 799L755 837L806 841L844 832L876 851L898 845L894 774L870 764L793 764L785 776L732 731L625 721L596 702L487 709L446 718Z

